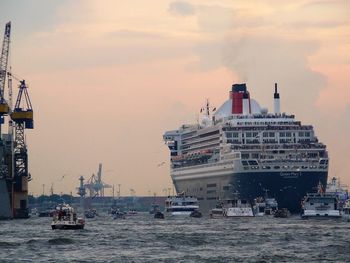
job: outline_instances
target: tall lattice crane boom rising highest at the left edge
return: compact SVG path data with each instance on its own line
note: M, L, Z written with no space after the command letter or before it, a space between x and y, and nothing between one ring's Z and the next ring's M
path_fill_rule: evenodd
M4 89L5 89L5 79L7 72L7 62L10 51L10 34L11 34L11 22L6 23L4 41L2 43L1 57L0 57L0 102L5 101Z

